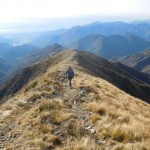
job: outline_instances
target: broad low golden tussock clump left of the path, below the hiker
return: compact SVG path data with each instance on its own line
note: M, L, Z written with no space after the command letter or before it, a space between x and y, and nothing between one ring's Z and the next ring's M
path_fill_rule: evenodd
M40 112L46 110L46 111L51 111L51 110L60 110L63 108L63 104L58 102L58 101L50 101L50 100L47 100L47 101L44 101L40 104L39 106L39 110Z

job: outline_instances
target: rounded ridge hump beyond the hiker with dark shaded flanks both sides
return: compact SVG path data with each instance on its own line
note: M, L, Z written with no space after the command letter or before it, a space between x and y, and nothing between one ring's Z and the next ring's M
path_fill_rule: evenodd
M73 54L72 54L73 53ZM111 63L103 58L100 58L92 53L80 52L74 50L64 51L55 54L49 59L37 63L31 67L25 68L22 72L17 74L14 78L8 80L0 88L0 98L14 94L21 87L23 87L29 80L46 72L46 70L55 65L61 64L63 61L76 61L86 72L99 76L125 92L139 97L147 102L150 97L150 76L140 73L134 69L123 65ZM69 62L67 62L69 64ZM9 88L8 88L9 87Z

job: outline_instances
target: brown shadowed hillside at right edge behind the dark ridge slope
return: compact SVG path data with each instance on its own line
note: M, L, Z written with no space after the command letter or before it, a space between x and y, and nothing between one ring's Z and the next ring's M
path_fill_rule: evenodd
M114 58L113 61L119 61L129 67L150 74L150 48L145 51L128 55L120 58Z

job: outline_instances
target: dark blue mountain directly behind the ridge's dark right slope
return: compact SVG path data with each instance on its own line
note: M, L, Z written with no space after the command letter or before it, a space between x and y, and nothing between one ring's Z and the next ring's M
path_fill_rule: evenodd
M86 50L107 59L133 54L149 46L150 42L133 35L106 37L98 34L88 35L70 45L72 48Z

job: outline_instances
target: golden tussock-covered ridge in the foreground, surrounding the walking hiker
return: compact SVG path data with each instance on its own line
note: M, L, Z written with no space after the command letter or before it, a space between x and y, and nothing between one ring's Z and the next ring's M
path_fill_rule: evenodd
M75 71L72 89L66 86L68 64ZM28 82L0 105L0 148L150 149L150 106L100 78L109 67L115 65L75 50L32 66Z

